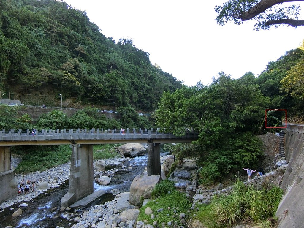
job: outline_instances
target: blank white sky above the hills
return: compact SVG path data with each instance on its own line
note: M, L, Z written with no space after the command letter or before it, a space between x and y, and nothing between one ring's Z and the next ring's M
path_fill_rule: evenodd
M232 78L248 71L257 77L269 61L299 47L304 39L304 26L266 31L253 31L254 21L218 26L214 8L225 0L65 2L85 10L106 37L116 42L123 37L133 39L138 49L150 54L152 64L188 86L198 81L207 85L220 71Z

